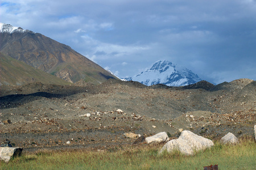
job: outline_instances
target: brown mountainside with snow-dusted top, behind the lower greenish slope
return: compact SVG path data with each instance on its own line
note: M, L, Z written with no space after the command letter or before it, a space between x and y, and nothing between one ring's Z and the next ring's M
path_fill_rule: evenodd
M40 33L0 24L0 51L37 69L75 83L79 80L99 84L115 78L101 66Z

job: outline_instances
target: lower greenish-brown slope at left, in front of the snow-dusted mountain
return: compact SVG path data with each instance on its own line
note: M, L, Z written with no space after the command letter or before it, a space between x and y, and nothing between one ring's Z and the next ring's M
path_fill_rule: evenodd
M54 75L35 69L24 62L6 56L0 52L0 86L3 84L16 86L32 82L47 84L71 84Z

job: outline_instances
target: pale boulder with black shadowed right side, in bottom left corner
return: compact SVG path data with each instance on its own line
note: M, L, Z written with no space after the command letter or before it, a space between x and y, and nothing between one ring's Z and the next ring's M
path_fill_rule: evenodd
M0 160L6 163L13 157L20 156L23 148L20 147L0 147Z

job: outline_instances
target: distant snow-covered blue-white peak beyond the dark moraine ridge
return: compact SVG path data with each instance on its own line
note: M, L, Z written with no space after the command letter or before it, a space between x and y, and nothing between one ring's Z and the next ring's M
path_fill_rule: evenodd
M156 61L150 69L143 71L127 80L133 80L151 86L166 84L167 86L187 86L199 82L201 79L191 70L175 65L170 61Z

